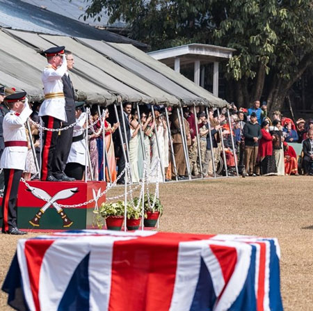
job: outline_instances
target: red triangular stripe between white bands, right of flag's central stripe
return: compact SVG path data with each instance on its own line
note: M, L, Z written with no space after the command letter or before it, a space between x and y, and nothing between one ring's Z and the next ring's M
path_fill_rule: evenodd
M221 248L218 245L210 245L210 248L220 264L220 269L223 273L225 285L227 285L230 277L232 276L232 273L234 273L234 268L237 262L236 248L227 246L223 246L223 248ZM220 296L222 294L223 292L220 293Z

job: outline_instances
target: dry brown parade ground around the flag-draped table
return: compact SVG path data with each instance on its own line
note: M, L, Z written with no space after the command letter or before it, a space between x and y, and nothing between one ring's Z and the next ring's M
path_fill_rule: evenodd
M312 177L292 176L161 184L164 215L159 230L278 237L284 310L312 311L312 182ZM2 234L0 239L2 284L18 238ZM10 310L3 293L0 310Z

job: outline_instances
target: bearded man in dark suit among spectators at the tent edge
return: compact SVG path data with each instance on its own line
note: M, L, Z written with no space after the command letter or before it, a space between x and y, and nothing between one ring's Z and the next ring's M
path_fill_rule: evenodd
M130 127L129 127L129 115L131 113L131 104L124 104L123 105L123 113L120 113L120 110L118 111L118 118L120 119L120 129L122 131L122 138L123 142L120 141L120 133L119 131L115 131L113 134L113 141L114 141L114 148L115 148L115 157L118 157L118 176L120 173L122 173L122 170L125 168L125 157L122 148L125 149L126 152L126 142L125 142L125 130L126 130L126 138L127 138L127 145L129 145L130 141ZM123 119L124 121L123 122ZM125 123L125 127L124 127ZM124 184L125 175L123 174L120 180L118 181L119 184Z

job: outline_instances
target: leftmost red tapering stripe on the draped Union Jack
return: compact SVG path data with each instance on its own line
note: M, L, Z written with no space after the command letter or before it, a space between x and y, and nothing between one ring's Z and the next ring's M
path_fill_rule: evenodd
M38 240L33 239L25 243L25 257L27 262L27 269L29 271L29 284L31 285L31 293L33 294L33 302L35 304L35 311L40 311L39 303L39 279L40 269L43 257L49 246L54 243L54 240Z

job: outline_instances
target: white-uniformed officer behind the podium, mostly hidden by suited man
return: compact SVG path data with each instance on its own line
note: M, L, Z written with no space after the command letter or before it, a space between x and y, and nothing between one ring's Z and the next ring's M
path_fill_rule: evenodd
M74 126L73 139L70 154L67 158L65 174L75 180L83 179L83 172L88 166L86 164L86 112L83 108L84 102L75 102L76 125Z

